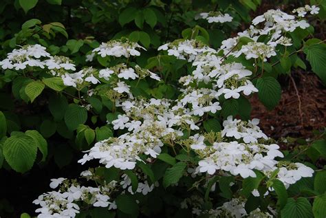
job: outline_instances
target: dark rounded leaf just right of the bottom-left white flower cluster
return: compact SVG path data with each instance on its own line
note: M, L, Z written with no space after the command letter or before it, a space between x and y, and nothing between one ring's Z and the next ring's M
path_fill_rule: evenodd
M128 215L137 215L138 214L138 204L135 202L130 195L119 195L116 198L116 205L118 206L118 210L121 210Z

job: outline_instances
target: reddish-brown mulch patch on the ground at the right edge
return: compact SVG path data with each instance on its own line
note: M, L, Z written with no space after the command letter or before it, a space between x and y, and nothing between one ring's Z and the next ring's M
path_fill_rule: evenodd
M292 73L279 78L282 85L282 97L279 105L268 111L258 96L251 98L252 118L259 118L259 126L265 133L275 139L312 138L312 130L326 127L326 87L315 74L307 72ZM298 90L296 94L295 86ZM301 100L301 115L299 100Z

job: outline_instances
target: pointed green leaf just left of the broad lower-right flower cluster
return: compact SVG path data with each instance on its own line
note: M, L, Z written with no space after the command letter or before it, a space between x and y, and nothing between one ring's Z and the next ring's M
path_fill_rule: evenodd
M185 162L178 162L171 168L166 169L163 177L164 188L169 187L171 184L179 182L180 178L184 174L184 169L187 164Z

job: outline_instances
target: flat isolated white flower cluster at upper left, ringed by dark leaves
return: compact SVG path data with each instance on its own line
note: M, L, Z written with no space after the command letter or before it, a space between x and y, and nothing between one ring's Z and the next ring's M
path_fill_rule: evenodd
M126 58L129 58L129 56L140 56L140 52L137 49L146 50L138 43L127 40L111 40L96 47L91 56L89 56L89 61L92 61L95 54L100 55L102 58L105 56L124 56Z

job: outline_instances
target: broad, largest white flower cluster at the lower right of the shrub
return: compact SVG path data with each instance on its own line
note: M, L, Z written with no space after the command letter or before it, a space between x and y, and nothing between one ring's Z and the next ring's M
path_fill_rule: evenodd
M202 157L197 172L210 175L216 171L230 172L241 177L256 177L254 169L272 171L277 161L275 157L283 157L277 144L257 144L233 142L214 142L213 146L194 147Z

